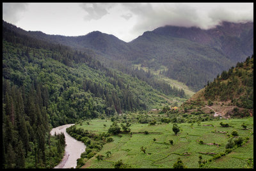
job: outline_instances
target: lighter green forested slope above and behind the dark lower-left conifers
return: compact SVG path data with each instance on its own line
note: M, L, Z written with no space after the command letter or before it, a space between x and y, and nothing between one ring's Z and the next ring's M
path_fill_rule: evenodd
M108 69L88 54L29 37L25 42L8 34L4 38L13 43L3 40L3 78L24 86L26 91L31 82L40 82L47 89L47 112L54 127L99 114L148 110L165 101L146 82ZM29 43L29 47L19 41ZM168 88L172 91L166 84L167 91Z

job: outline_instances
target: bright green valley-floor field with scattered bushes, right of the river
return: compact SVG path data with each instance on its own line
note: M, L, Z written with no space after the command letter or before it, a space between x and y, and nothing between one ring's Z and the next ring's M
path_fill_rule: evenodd
M172 130L175 123L161 122L161 118L166 115L159 117L144 114L144 117L156 119L156 123L150 122L151 124L138 123L136 118L140 115L131 114L116 118L114 122L120 129L117 135L109 133L109 128L113 125L113 121L109 119L93 119L90 124L87 121L77 123L73 128L77 130L77 134L73 133L73 137L82 140L84 137L78 136L79 132L89 132L102 144L97 151L95 146L85 142L88 152L81 155L77 168L117 168L118 165L123 168L173 168L178 158L188 168L246 168L249 167L247 161L253 159L253 117L204 121L200 124L178 123L180 131L175 135ZM222 128L221 122L230 127ZM243 123L248 130L243 129ZM129 131L125 133L124 128L129 128ZM231 135L235 130L238 137ZM109 137L111 140L108 142ZM243 138L241 145L226 148L228 141L238 138ZM95 152L92 154L93 149ZM198 163L200 156L201 164Z

